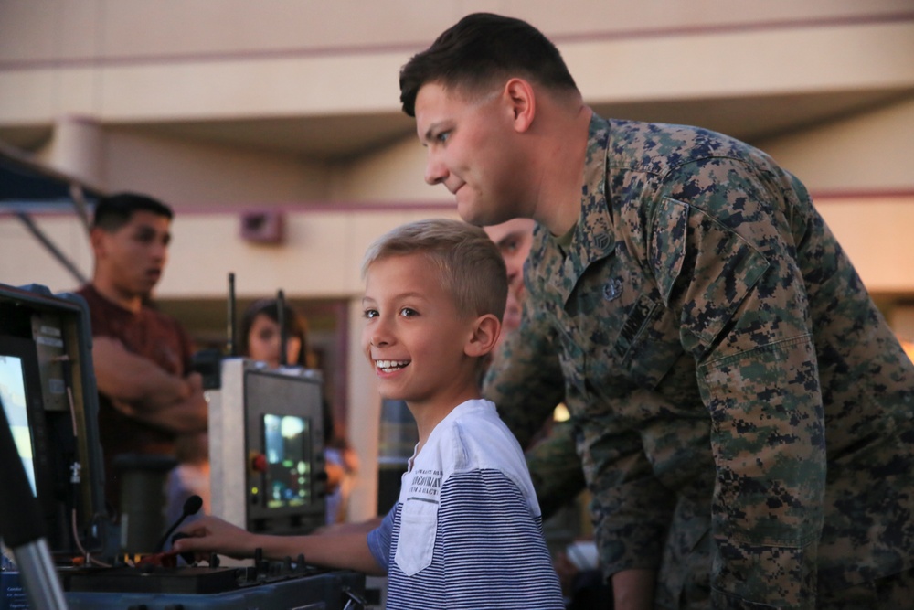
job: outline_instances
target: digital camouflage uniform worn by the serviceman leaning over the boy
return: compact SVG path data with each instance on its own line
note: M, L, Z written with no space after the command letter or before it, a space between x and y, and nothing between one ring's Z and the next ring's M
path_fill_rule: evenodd
M522 444L564 398L607 574L807 608L911 567L914 368L770 157L594 116L578 225L537 227L526 284L484 393Z

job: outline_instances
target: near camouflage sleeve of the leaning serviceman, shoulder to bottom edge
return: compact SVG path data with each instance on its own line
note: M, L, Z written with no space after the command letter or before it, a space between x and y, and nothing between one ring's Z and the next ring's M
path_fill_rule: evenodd
M675 185L656 210L652 261L711 417L712 605L813 607L824 412L797 195L777 172L719 158Z

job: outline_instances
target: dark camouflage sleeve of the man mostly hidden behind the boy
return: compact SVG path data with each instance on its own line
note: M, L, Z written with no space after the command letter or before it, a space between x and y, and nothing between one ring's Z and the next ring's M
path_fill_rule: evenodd
M537 490L543 519L577 498L585 484L574 425L570 421L553 423L546 437L527 449L526 466Z

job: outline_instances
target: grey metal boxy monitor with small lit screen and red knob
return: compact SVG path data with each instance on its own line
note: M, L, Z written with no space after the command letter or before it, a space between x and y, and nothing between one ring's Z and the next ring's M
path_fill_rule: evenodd
M220 388L207 398L212 513L273 534L323 526L320 371L224 359Z

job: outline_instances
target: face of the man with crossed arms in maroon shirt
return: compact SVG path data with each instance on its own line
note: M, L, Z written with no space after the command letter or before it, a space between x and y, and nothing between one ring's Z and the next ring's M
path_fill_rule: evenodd
M150 294L165 269L170 228L165 216L138 210L112 233L93 230L97 276L125 296Z

